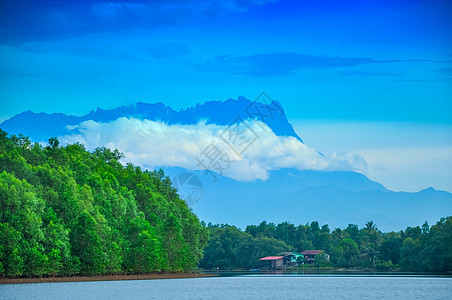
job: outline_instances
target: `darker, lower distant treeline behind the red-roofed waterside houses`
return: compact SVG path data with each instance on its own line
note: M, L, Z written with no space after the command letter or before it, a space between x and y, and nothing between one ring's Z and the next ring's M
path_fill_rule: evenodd
M377 271L451 272L452 217L436 225L381 232L372 221L330 230L318 222L295 226L262 222L245 231L230 225L208 225L210 240L200 262L203 268L259 268L259 258L280 252L324 250L330 260L316 259L310 267ZM306 266L305 266L306 267Z

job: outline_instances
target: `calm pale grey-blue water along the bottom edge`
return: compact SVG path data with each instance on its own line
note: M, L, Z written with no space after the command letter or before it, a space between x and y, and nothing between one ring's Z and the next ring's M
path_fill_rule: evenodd
M452 278L262 276L0 285L0 299L452 299Z

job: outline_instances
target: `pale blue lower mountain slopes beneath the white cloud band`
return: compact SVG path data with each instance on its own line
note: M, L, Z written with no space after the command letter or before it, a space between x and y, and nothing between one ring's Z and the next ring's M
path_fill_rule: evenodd
M452 194L428 188L417 193L394 192L356 172L281 169L267 181L238 182L202 171L165 168L171 178L188 173L202 183L192 208L205 222L245 228L261 221L295 224L319 221L331 227L363 226L374 221L383 231L401 230L452 214ZM194 187L199 190L198 186ZM190 189L181 189L182 198Z

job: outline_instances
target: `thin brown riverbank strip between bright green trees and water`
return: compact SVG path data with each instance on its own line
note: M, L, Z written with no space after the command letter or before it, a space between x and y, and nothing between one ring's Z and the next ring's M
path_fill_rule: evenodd
M151 280L212 277L215 274L202 273L149 273L142 275L103 275L72 276L43 278L0 278L0 284L49 283L49 282L82 282L82 281L118 281L118 280Z

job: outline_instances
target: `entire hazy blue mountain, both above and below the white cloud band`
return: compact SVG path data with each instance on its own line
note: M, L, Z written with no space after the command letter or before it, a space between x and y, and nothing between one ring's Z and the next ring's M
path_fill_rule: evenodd
M0 128L40 142L69 134L68 126L83 121L111 122L121 117L167 124L196 124L204 120L217 125L254 117L266 123L276 135L292 136L302 142L281 104L253 102L244 97L210 101L180 111L163 103L142 102L110 110L97 108L83 116L26 111L4 121ZM194 212L205 222L245 227L262 220L295 224L317 220L332 227L346 227L349 223L362 226L373 220L387 231L417 226L424 221L436 222L452 214L452 194L448 192L433 188L417 193L394 192L356 172L287 168L270 171L266 181L239 182L218 174L213 180L202 171L164 169L174 179L181 196L189 195L187 203L193 205Z

